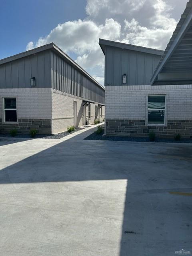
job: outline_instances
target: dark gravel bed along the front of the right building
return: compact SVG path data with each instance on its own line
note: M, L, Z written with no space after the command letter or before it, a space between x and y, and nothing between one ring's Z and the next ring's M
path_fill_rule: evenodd
M119 137L119 136L103 136L104 132L101 134L96 134L95 132L90 134L84 140L113 140L113 141L137 141L137 142L150 142L147 137ZM192 138L183 138L179 141L174 140L174 138L156 138L154 142L172 142L172 143L192 143Z

